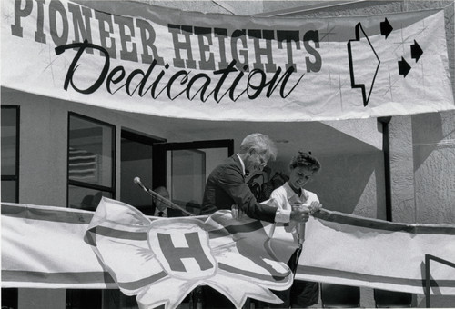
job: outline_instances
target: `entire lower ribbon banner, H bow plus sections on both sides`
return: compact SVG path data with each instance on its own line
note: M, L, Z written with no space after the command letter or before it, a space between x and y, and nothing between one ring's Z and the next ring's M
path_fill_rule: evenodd
M211 216L146 217L103 198L96 213L2 203L2 287L120 288L143 307L175 307L198 284L241 306L278 302L296 244L284 228ZM455 227L394 224L321 210L306 226L296 278L424 294L425 254L451 263ZM455 269L431 263L431 294L455 294Z

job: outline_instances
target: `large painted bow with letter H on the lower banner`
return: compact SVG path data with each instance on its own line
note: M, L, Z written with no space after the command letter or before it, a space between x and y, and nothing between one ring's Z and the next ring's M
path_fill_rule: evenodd
M120 290L137 294L141 308L175 308L200 284L237 307L247 297L281 303L269 289L287 289L293 274L278 261L265 226L250 219L233 224L227 211L205 218L150 221L134 207L103 198L86 239ZM295 250L289 235L288 242L289 258Z

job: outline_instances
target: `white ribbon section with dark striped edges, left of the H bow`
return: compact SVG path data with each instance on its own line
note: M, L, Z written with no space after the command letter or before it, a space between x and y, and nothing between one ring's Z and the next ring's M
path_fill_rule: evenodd
M1 210L2 287L117 288L84 243L93 212L10 203Z

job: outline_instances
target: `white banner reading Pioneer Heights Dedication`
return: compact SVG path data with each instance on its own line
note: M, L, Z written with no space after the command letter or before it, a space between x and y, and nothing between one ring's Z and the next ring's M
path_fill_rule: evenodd
M454 108L443 11L317 19L2 1L2 85L120 111L322 121Z

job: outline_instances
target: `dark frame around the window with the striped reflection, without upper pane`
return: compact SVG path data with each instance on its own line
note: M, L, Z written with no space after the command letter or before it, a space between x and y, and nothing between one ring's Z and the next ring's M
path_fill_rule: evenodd
M76 117L96 125L105 125L112 128L112 143L111 143L111 156L112 156L112 174L111 174L111 187L101 184L89 184L69 178L69 146L70 146L70 129L71 117ZM81 115L75 112L68 112L67 132L66 132L66 207L69 207L69 186L75 185L78 187L108 192L112 194L112 198L116 199L116 125L109 124L105 121Z

